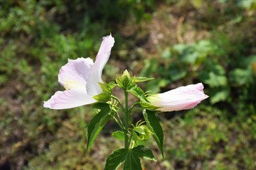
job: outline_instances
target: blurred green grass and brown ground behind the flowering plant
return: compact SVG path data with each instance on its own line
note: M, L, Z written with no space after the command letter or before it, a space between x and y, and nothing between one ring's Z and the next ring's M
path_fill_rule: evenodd
M95 110L43 108L64 90L60 67L95 60L110 32L106 81L130 69L156 77L141 84L154 93L201 81L210 96L190 111L159 114L166 157L152 142L159 162L144 169L255 169L255 8L253 0L0 1L0 169L102 169L122 147L110 121L85 155Z

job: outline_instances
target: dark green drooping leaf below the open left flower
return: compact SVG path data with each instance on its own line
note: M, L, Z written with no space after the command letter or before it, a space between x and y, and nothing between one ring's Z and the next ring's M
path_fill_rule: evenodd
M111 112L110 105L107 103L96 103L94 108L98 108L101 111L95 115L95 117L90 120L87 125L87 150L90 151L92 143L95 141L95 138L100 133L100 130L105 126L105 124L112 118L109 114Z

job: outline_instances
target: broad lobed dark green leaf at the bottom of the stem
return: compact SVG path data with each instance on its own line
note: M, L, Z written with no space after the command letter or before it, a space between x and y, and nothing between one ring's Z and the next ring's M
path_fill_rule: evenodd
M117 169L124 162L124 170L142 170L139 157L156 162L156 158L151 150L148 147L139 145L138 147L134 147L132 149L118 149L112 152L112 154L107 157L105 170Z

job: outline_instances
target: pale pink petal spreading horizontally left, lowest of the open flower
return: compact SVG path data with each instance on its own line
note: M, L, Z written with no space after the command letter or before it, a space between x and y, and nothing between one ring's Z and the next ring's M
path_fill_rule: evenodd
M57 91L48 101L44 101L43 107L51 109L75 108L97 102L92 96L88 96L85 89L71 89Z

